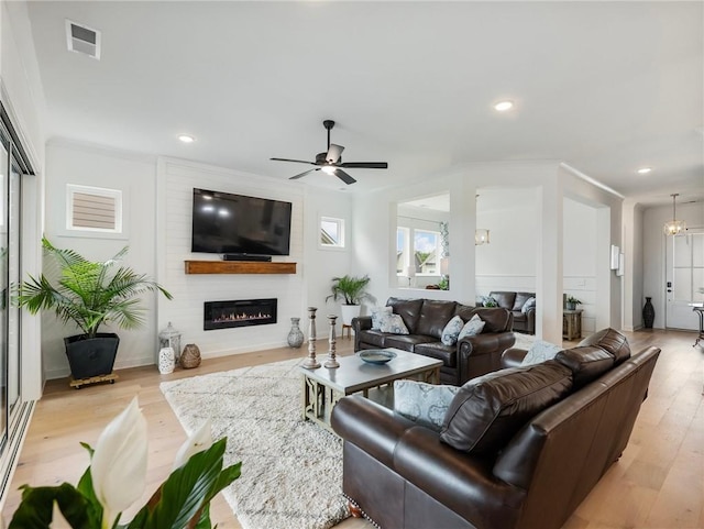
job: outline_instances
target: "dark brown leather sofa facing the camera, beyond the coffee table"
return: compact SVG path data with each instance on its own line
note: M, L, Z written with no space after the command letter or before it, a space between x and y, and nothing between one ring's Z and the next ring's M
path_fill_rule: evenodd
M501 368L502 353L516 342L512 332L513 317L505 309L394 297L388 298L386 306L402 317L409 334L372 329L370 316L358 317L352 320L354 351L396 348L442 360L440 381L443 384L462 385L470 378ZM440 341L442 330L452 317L460 316L466 322L474 315L485 323L481 334L466 337L457 345L444 345Z

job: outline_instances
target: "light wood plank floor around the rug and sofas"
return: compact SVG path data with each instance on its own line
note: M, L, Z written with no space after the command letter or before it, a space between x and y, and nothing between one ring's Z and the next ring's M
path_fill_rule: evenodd
M704 528L704 351L692 348L691 332L654 330L627 335L634 351L651 344L662 349L649 397L624 455L564 527ZM324 340L319 341L318 350L327 351ZM351 351L352 340L338 340L339 353ZM20 485L75 484L88 464L79 442L95 445L105 425L135 395L150 428L148 484L143 502L138 503L142 505L168 474L174 454L186 438L158 389L161 382L306 354L301 348L233 355L207 360L198 368L178 370L172 375L160 375L155 366L123 370L114 385L80 390L70 389L65 379L51 381L37 403L10 487L3 509L6 522L18 506ZM131 513L125 513L125 519L129 516ZM240 528L221 496L212 503L212 520L221 529ZM338 527L372 526L349 519Z

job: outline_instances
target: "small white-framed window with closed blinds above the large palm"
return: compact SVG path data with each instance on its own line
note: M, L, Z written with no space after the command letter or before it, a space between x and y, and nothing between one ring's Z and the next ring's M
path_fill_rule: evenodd
M66 229L122 233L122 191L68 184Z

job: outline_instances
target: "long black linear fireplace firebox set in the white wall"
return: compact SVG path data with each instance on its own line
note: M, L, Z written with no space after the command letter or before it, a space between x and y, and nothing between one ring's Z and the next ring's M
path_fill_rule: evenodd
M212 331L276 323L276 298L206 301L202 328Z

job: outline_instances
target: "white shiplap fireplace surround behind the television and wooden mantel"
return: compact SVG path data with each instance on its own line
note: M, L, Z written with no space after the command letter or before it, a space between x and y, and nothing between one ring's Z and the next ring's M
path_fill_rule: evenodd
M168 321L182 332L182 344L195 343L204 357L283 346L292 317L305 313L305 287L297 274L184 273L187 260L222 258L219 254L190 252L194 187L237 192L293 203L290 255L275 261L302 261L304 192L300 186L202 164L160 158L157 162L157 279L173 295L158 300L160 328ZM204 304L230 299L277 298L277 322L217 331L204 330ZM262 332L266 329L266 332Z

